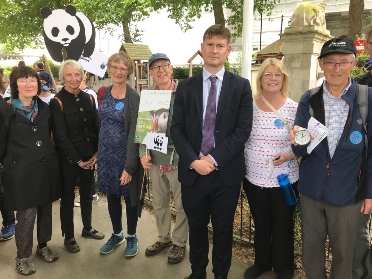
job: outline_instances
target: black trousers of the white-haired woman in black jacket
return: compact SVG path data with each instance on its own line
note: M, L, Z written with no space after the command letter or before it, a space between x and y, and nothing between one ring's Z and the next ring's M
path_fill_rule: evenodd
M93 170L85 170L78 164L70 164L65 156L60 156L61 164L61 228L62 235L68 238L74 237L74 200L75 184L77 176L80 177L80 210L83 226L92 227L92 183L94 179Z

